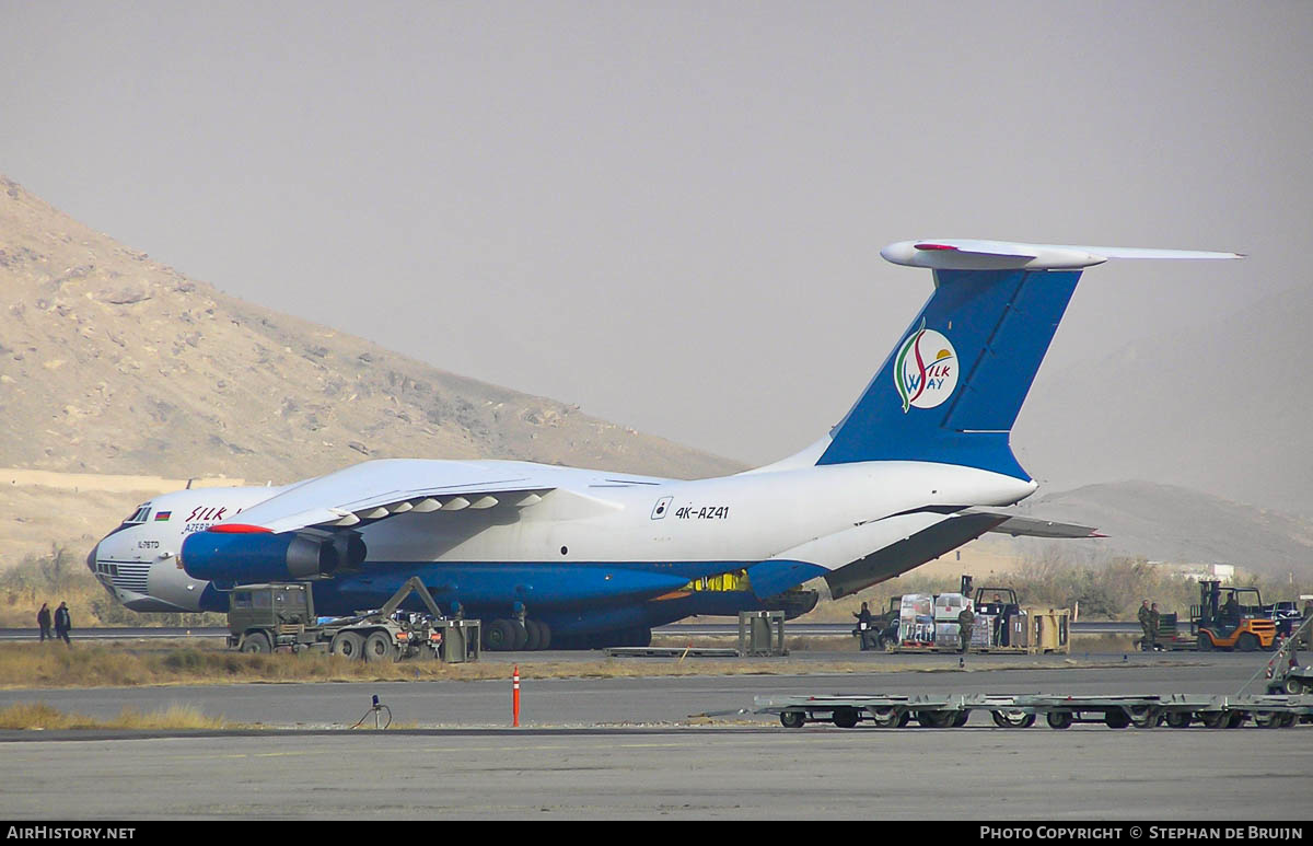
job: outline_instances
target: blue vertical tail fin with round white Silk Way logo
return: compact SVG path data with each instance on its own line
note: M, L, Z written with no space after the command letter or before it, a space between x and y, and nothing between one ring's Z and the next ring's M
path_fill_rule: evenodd
M935 293L817 464L936 461L1029 479L1008 435L1079 278L936 269Z

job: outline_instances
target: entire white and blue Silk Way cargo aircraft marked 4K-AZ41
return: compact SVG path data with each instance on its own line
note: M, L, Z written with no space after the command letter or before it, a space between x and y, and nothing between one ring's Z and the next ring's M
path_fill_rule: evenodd
M378 460L281 487L183 490L88 556L137 611L226 611L234 585L309 581L319 613L419 577L492 649L646 645L691 615L800 613L985 532L1091 536L1012 516L1037 485L1008 444L1085 268L1229 252L990 240L890 244L935 290L829 435L775 464L680 481L524 461ZM416 606L419 610L419 606Z

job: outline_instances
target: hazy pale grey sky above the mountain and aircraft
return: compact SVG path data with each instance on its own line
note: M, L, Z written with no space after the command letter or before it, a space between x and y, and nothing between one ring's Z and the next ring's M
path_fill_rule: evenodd
M0 0L0 172L244 300L764 462L928 294L893 240L1251 255L1091 271L1045 367L1306 285L1310 43L1305 0Z

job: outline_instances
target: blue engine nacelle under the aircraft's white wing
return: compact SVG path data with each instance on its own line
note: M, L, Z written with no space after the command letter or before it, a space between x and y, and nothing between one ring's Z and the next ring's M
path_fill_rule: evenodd
M188 575L207 582L285 582L332 575L365 561L356 532L196 532L179 554Z

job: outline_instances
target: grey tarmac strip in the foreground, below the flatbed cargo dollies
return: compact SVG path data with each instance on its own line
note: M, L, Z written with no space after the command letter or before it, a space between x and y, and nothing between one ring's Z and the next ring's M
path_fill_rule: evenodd
M0 812L1288 820L1308 817L1310 740L1313 729L671 728L42 741L0 749Z

